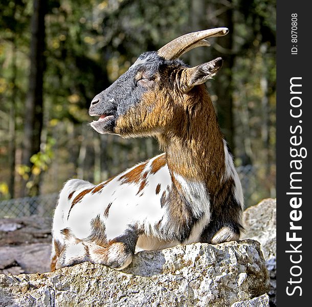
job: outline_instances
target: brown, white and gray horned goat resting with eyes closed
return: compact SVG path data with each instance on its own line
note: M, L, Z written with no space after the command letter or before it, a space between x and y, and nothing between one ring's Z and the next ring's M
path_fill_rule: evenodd
M193 32L143 53L92 100L98 133L157 137L165 153L98 185L65 183L54 214L51 270L83 261L121 270L139 250L239 239L241 184L205 85L222 59L196 67L178 59L227 33Z

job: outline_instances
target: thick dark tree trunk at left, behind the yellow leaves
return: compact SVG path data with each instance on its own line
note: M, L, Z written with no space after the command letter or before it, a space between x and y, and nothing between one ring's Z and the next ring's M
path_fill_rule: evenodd
M44 16L46 15L46 1L34 0L31 19L31 46L30 46L30 74L29 89L25 104L25 124L22 163L32 167L30 158L40 151L40 137L43 121L43 72L44 59ZM39 181L36 180L33 188L28 190L24 181L22 195L39 194ZM34 208L35 211L35 208Z

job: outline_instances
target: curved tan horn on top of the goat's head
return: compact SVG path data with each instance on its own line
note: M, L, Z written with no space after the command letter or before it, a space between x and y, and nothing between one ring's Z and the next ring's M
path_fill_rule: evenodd
M200 46L210 46L206 40L208 37L224 36L228 34L228 28L215 28L204 31L197 31L177 37L168 42L157 53L167 60L173 60L193 48Z

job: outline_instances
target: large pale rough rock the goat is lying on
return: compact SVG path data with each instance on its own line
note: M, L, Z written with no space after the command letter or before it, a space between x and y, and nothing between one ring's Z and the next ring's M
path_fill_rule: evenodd
M0 275L0 306L225 307L268 287L258 242L196 243L137 253L123 272L84 262L53 273Z

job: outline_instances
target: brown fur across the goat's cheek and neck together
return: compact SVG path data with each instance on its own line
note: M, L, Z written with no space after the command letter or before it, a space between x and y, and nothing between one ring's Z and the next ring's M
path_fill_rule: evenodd
M206 86L201 84L187 91L183 84L188 84L189 76L185 69L178 69L172 74L175 76L172 90L172 86L162 84L162 80L168 79L166 73L163 77L158 73L155 83L160 85L144 93L140 104L118 119L118 132L157 135L166 154L153 161L151 172L168 163L171 172L204 181L209 192L214 193L225 172L225 153Z

